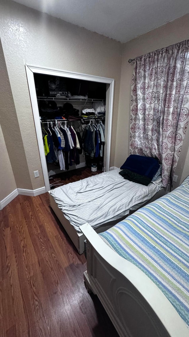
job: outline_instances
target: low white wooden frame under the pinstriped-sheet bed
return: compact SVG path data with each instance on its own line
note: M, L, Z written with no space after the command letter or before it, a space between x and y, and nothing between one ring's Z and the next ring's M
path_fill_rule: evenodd
M165 193L166 193L165 189L161 188L148 202L146 202L145 204L143 204L141 207L143 207L146 204L149 204L150 202L156 200L157 198L159 198L160 196L164 195ZM56 202L54 201L54 199L53 199L53 197L51 196L50 193L49 193L49 201L50 201L51 208L53 209L54 213L56 214L56 216L60 220L61 224L63 225L63 227L65 229L65 231L68 233L70 239L72 240L72 242L74 243L75 247L77 248L78 253L82 254L84 252L84 241L86 239L85 236L82 233L77 233L76 229L71 225L70 221L65 218L64 213L58 207L58 205L56 204ZM129 214L131 214L131 213L133 213L135 211L131 211L131 212L129 212ZM107 222L103 226L95 228L95 232L97 232L97 233L105 232L109 228L113 227L119 221L125 219L127 216L123 216L122 218L119 218L117 220L113 220L113 221Z

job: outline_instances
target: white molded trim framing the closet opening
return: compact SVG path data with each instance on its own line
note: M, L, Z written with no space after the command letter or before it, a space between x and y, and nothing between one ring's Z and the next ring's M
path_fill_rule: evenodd
M39 154L41 158L41 166L43 171L44 183L46 192L50 190L49 178L48 178L48 171L47 171L47 164L46 158L44 153L44 145L43 145L43 137L41 132L41 123L40 123L40 116L39 116L39 109L37 103L37 95L35 89L35 82L34 82L34 73L43 74L43 75L53 75L57 77L67 77L71 79L77 80L85 80L85 81L92 81L92 82L100 82L109 84L109 102L108 102L108 112L106 112L106 125L108 122L108 132L107 132L107 158L106 158L106 171L110 169L110 148L111 148L111 132L112 132L112 114L113 114L113 95L114 95L114 79L89 75L89 74L82 74L79 72L72 72L67 70L60 70L60 69L53 69L53 68L46 68L46 67L39 67L34 65L25 64L26 68L26 75L28 80L28 87L29 93L31 98L32 104L32 111L34 116L34 123L39 147Z

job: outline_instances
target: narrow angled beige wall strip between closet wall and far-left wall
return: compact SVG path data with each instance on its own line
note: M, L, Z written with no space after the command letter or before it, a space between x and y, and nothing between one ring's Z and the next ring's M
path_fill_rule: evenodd
M6 68L5 58L3 55L2 45L0 41L0 124L6 143L6 147L14 172L16 185L19 188L32 189L28 164L24 151L21 131L18 124L8 72ZM4 147L3 147L4 148ZM3 152L1 150L3 160ZM6 153L5 153L6 156ZM9 171L7 171L9 172ZM8 187L8 186L7 186ZM13 186L14 187L14 186ZM13 188L12 190L14 190ZM7 191L8 195L10 191Z

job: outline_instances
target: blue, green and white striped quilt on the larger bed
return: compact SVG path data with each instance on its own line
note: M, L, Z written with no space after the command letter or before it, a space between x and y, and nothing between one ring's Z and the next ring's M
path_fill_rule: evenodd
M99 235L158 286L189 327L189 178Z

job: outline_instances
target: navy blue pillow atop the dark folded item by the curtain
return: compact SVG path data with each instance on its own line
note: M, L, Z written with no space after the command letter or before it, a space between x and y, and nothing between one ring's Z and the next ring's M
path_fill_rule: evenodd
M153 157L131 154L120 168L121 170L127 169L152 179L159 169L159 163Z

